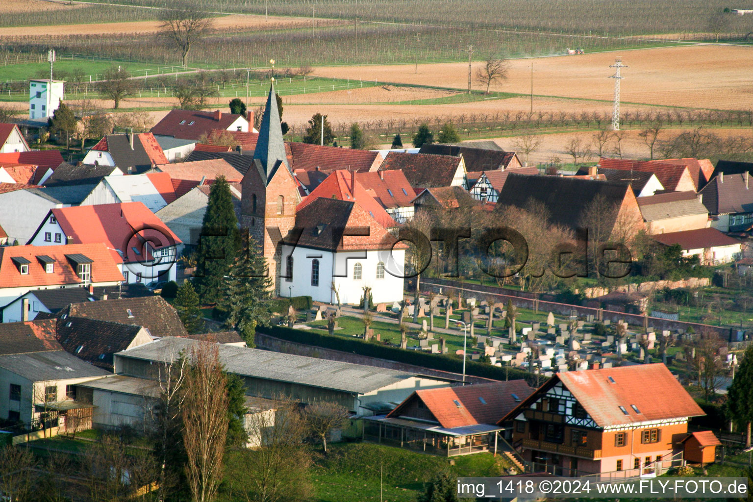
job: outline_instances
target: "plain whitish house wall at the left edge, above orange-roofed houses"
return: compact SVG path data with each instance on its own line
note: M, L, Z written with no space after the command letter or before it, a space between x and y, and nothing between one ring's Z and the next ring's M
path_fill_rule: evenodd
M39 222L50 209L65 208L70 204L59 204L29 190L14 190L0 193L0 227L8 234L8 242L26 244L34 236ZM65 242L60 236L57 244ZM55 244L55 242L52 242Z

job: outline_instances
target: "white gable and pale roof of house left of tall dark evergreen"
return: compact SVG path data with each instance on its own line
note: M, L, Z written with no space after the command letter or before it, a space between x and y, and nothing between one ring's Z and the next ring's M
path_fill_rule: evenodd
M152 212L159 211L167 205L147 175L123 176L122 172L120 175L102 178L81 205L120 202L142 202Z

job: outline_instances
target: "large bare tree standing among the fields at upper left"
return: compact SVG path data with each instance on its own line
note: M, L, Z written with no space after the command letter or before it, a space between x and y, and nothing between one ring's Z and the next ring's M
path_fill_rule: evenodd
M187 65L188 52L203 36L212 30L212 18L197 2L176 2L170 9L160 11L160 35L171 40Z

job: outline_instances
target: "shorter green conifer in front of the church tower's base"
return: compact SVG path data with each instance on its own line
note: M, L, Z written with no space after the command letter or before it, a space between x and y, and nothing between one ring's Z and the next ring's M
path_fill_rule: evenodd
M272 279L264 274L267 262L258 246L249 239L248 249L233 262L229 276L223 279L221 307L227 312L225 326L239 331L249 347L259 324L270 320Z

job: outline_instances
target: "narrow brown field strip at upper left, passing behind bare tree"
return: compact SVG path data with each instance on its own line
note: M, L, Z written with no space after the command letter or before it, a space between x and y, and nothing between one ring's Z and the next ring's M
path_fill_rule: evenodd
M58 4L50 2L40 2L39 0L2 0L2 2L11 2L22 4L24 2L37 2L41 5L53 5L53 8L60 8ZM35 3L36 5L36 3ZM69 6L65 6L68 8ZM84 5L75 5L74 7L85 7ZM2 8L5 11L5 5ZM28 8L27 8L28 11ZM232 16L221 16L215 18L215 29L223 32L238 32L246 29L263 28L266 25L274 25L279 28L282 25L295 25L300 23L310 23L311 20L303 17L276 17L270 16L269 21L265 23L264 16L252 14L233 14ZM92 23L92 24L72 24L72 25L54 25L44 26L45 35L106 35L111 33L133 33L143 35L154 33L159 30L158 21L134 21L133 23ZM0 36L22 36L29 35L28 26L11 26L0 28Z

